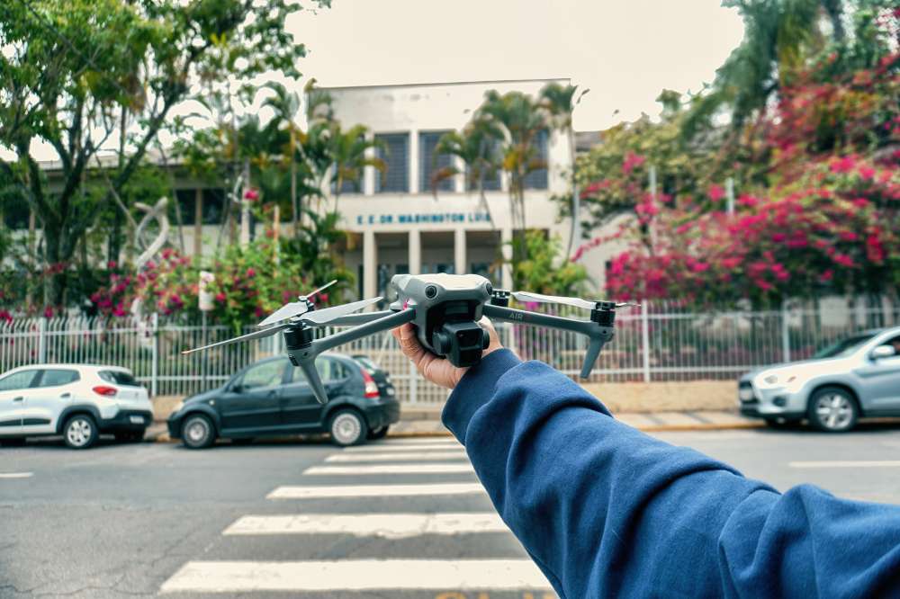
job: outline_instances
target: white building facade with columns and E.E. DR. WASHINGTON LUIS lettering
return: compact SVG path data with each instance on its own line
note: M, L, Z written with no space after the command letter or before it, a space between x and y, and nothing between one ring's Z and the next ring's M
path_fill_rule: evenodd
M548 81L326 89L340 121L366 125L389 148L383 176L368 167L361 189L340 196L339 210L355 241L344 258L358 274L362 295L382 294L397 273L482 273L510 287L509 272L498 269L500 253L513 236L507 177L501 174L485 186L486 207L478 192L466 189L462 174L443 183L436 197L430 184L436 168L433 150L442 134L465 126L488 90L536 95ZM571 224L557 222L550 197L568 189L564 177L571 172L569 141L553 132L541 139L541 152L548 167L527 178L526 226L559 235L567 244ZM462 170L464 165L457 166ZM599 273L590 270L596 280Z

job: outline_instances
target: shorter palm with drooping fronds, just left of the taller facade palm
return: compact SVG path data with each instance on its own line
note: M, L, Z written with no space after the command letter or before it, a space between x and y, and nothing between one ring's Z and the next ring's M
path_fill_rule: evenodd
M491 207L484 195L486 177L497 176L500 170L500 156L497 151L497 139L502 132L488 121L471 121L462 131L450 131L437 140L435 158L437 156L455 156L465 165L461 171L456 165L438 169L431 177L432 190L437 198L437 183L445 181L457 174L466 175L466 188L478 192L479 204L491 219L491 227L495 227Z

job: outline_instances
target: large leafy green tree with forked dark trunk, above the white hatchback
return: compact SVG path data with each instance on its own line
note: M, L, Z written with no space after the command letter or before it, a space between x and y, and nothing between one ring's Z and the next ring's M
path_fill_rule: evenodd
M285 18L299 9L287 0L0 5L0 146L15 155L0 163L0 173L20 186L40 219L49 303L66 303L76 246L134 174L175 106L218 59L217 43L235 40L228 63L238 80L273 70L299 75L295 62L305 50L284 30ZM94 156L117 133L123 141L111 184L85 192ZM58 194L49 192L31 154L37 142L57 153Z

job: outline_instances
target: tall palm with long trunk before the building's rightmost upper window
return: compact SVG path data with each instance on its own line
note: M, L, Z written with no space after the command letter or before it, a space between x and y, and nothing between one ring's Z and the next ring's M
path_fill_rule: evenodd
M529 173L546 168L540 156L538 139L549 130L548 115L528 94L491 90L475 112L476 121L484 121L498 133L500 165L509 174L509 214L516 229L513 264L527 252L525 237L525 180Z

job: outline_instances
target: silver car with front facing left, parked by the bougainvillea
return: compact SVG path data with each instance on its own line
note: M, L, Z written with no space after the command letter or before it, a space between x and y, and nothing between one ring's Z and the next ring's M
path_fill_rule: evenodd
M837 433L861 416L900 416L900 326L845 337L809 360L749 372L738 396L745 416L770 425L806 418Z

